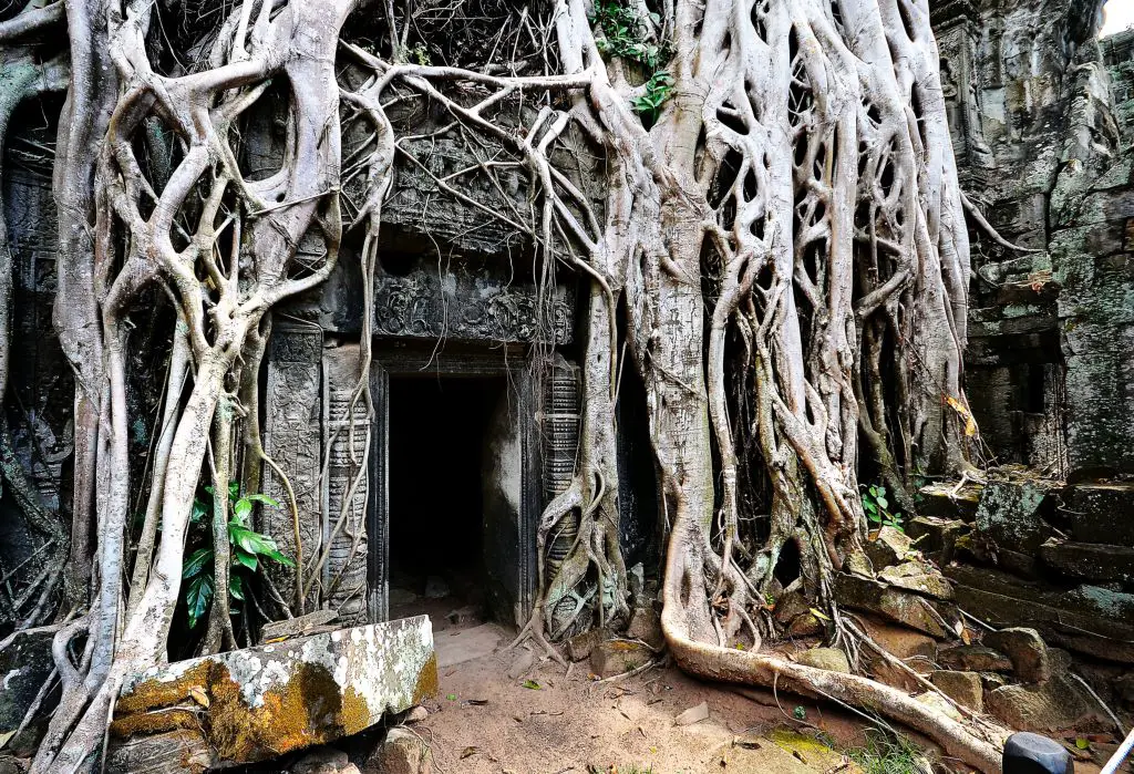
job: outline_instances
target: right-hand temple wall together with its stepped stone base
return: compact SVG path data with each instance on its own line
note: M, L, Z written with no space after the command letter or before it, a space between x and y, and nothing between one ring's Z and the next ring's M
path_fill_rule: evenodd
M1134 33L1099 41L1100 10L931 1L962 186L1027 249L973 229L966 393L988 480L923 488L907 531L966 612L1074 652L1128 712Z

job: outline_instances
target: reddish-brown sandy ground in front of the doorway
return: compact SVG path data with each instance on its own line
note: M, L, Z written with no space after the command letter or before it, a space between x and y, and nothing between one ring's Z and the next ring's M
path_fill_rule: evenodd
M616 682L595 682L586 662L569 672L506 649L511 637L493 624L437 632L441 692L426 720L411 728L432 748L440 772L549 774L559 772L826 773L840 755L798 738L792 715L833 739L861 740L861 723L829 707L781 696L763 706L728 688L658 666ZM460 663L455 660L467 658ZM525 669L526 667L526 669ZM764 700L775 705L769 692ZM682 712L705 703L706 720L677 725ZM779 731L778 731L779 730ZM813 733L813 730L812 730Z

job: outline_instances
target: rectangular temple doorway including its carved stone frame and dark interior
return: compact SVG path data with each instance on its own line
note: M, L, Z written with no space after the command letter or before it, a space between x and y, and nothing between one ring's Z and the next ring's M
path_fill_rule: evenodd
M526 358L399 345L374 360L371 620L526 621L542 503Z

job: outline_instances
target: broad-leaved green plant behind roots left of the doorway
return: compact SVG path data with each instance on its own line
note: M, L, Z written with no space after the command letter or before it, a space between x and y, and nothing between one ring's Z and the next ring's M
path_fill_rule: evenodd
M192 525L208 526L208 517L213 511L212 499L214 495L211 486L204 487L205 500L193 501L193 512L189 516ZM231 567L228 576L229 597L237 603L244 602L244 589L248 572L255 572L260 567L261 558L295 567L295 562L280 553L279 546L268 535L255 531L248 527L247 519L252 514L253 503L263 503L271 508L279 508L279 503L266 494L240 495L239 482L230 482L228 485L228 501L231 513L228 520L228 543ZM217 580L213 577L213 556L215 555L212 529L198 529L202 533L202 545L189 554L181 565L181 579L187 580L183 592L183 599L188 614L189 629L195 629L197 623L204 618L213 595L217 593Z

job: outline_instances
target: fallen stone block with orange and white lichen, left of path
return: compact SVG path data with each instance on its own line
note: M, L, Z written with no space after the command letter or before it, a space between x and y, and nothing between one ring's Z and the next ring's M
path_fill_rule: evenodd
M163 732L184 731L210 750L211 766L252 763L357 733L433 696L437 679L426 616L344 629L134 675L111 735L133 760L151 746L168 750ZM178 743L200 749L192 739Z

